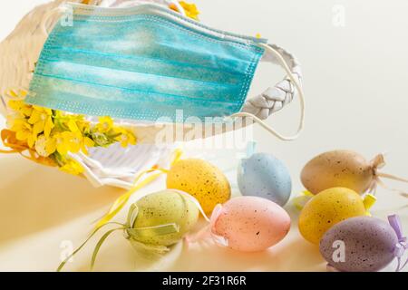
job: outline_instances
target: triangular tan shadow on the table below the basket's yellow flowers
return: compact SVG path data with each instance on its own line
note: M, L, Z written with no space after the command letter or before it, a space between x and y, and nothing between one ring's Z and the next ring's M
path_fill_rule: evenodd
M18 156L2 157L0 243L107 207L121 193L123 189L95 189L86 179Z

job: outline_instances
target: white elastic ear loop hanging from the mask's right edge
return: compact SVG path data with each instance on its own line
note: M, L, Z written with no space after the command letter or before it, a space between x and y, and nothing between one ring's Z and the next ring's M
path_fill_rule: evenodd
M282 67L287 72L287 77L295 85L297 93L299 95L300 111L301 111L300 112L299 126L297 128L297 131L296 131L295 135L285 136L283 134L278 133L276 130L274 130L272 127L270 127L267 124L267 122L260 120L259 118L257 118L257 116L255 116L254 114L252 114L250 112L240 111L238 113L232 114L229 118L250 117L255 122L257 122L260 126L262 126L265 130L267 130L269 133L271 133L272 135L275 135L278 139L285 140L285 141L296 140L299 137L300 132L303 130L304 124L305 124L305 96L304 96L304 93L303 93L303 89L302 89L300 83L296 81L296 78L295 78L294 74L290 71L290 68L287 65L287 62L285 61L283 56L279 52L277 52L276 49L274 49L273 47L271 47L270 45L265 44L265 43L257 43L257 44L259 46L265 48L265 50L267 52L273 53L277 57L277 60L279 61L279 63L281 63Z

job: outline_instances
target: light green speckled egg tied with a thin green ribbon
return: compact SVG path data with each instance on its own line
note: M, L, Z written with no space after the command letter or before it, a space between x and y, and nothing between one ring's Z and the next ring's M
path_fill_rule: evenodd
M199 218L199 208L194 202L175 190L152 193L135 204L137 217L131 227L139 231L132 238L146 245L170 246L177 243ZM143 229L169 224L176 224L178 231L163 235L157 228Z

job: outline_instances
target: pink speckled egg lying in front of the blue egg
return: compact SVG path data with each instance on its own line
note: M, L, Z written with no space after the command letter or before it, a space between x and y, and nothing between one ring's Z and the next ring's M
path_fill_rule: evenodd
M216 214L212 234L238 251L257 252L272 247L287 236L290 228L285 209L265 198L232 198Z

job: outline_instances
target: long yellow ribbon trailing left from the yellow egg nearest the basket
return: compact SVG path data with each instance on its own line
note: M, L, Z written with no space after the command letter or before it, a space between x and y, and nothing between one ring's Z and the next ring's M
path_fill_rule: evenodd
M173 152L174 157L173 157L173 160L170 163L170 167L173 166L175 163L177 163L180 160L181 155L182 155L182 150L180 150L180 149L175 150ZM151 172L156 172L156 171L159 171L159 172L157 172L155 174L152 174L151 176L147 177L146 179L141 180L141 178L143 176L145 176L146 174L151 173ZM131 196L136 191L138 191L139 189L144 188L145 186L147 186L148 184L150 184L154 180L158 179L163 173L168 173L168 172L169 172L168 169L160 169L160 168L154 168L154 167L152 169L142 171L136 177L136 179L134 179L134 181L133 181L134 186L131 189L129 189L126 193L122 194L119 198L117 198L115 200L115 202L113 202L113 205L109 209L108 213L105 216L103 216L103 218L101 218L101 220L98 221L95 228L102 227L103 225L108 223L114 216L116 216L121 211L121 208L123 208L126 205L129 198L131 198Z

